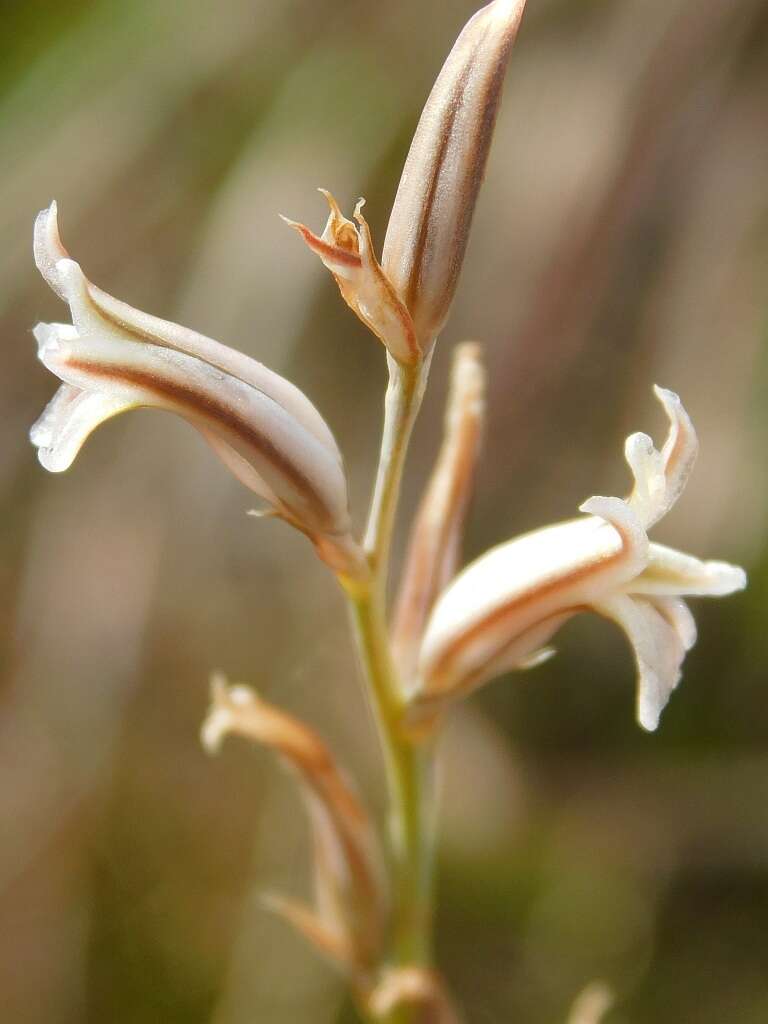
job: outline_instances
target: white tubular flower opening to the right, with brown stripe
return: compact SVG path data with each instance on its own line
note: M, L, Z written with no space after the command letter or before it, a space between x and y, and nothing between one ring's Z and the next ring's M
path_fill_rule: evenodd
M696 457L693 426L676 394L655 388L670 420L660 452L647 434L627 439L635 485L626 500L590 498L584 518L509 541L469 565L443 592L427 625L412 724L426 724L450 699L502 672L529 668L579 611L626 632L638 670L637 717L655 729L696 639L686 596L741 590L743 569L703 562L648 541L674 505Z

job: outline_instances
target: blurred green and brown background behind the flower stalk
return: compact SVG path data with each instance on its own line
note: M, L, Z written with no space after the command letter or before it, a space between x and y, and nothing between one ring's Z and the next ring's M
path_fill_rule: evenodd
M303 387L360 521L384 360L278 219L368 197L383 238L410 135L472 0L6 0L0 6L0 1020L323 1024L348 1013L259 906L307 888L273 761L198 741L211 669L321 729L381 808L341 597L308 546L183 424L142 413L45 474L54 388L35 213L101 287ZM485 344L473 555L627 486L678 390L701 455L655 537L741 562L654 735L624 638L587 616L498 681L443 750L438 950L472 1024L768 1020L768 6L529 0L487 181L417 433L451 347ZM400 536L400 550L402 537Z

